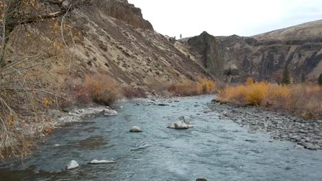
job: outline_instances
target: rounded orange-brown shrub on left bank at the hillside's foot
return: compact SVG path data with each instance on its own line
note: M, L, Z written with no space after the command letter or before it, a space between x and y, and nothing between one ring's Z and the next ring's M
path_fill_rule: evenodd
M120 97L119 88L103 74L87 75L82 88L85 90L83 97L90 97L97 104L110 106Z

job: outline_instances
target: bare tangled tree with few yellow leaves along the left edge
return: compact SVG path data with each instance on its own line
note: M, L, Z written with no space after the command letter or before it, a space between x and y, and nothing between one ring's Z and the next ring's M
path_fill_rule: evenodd
M58 105L58 99L67 100L67 95L56 90L56 87L48 88L45 81L41 80L50 70L50 63L54 58L46 59L45 52L28 47L28 40L24 41L27 44L17 43L14 37L18 37L21 42L28 30L37 29L34 25L46 25L41 22L46 22L46 19L47 22L57 21L57 17L63 20L69 12L91 5L94 1L96 0L0 0L0 159L3 155L19 156L27 152L30 141L26 140L22 133L24 130L21 129L28 122L26 117L43 120L44 117L39 114L41 106L47 107L52 103ZM61 35L65 43L63 21L61 25L56 23L58 36ZM48 37L47 34L44 35ZM57 34L50 38L52 41L58 39ZM35 38L30 39L30 45L36 41ZM46 45L52 45L52 42ZM21 52L17 55L14 53L18 51L12 51L12 47L18 47L19 51L30 49L39 52L30 55ZM51 49L50 46L47 48Z

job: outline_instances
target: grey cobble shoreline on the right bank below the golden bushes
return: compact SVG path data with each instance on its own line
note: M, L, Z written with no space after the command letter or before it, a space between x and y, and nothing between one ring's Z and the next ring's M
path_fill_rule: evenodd
M304 120L252 106L212 102L208 107L220 113L219 119L231 119L242 127L249 126L251 132L269 132L271 138L292 141L297 148L322 149L322 121Z

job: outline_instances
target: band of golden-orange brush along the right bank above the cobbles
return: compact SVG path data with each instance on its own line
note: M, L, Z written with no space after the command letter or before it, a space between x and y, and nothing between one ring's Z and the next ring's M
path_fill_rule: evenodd
M322 88L313 85L279 86L266 82L227 86L219 93L219 100L233 104L266 106L301 115L322 117Z

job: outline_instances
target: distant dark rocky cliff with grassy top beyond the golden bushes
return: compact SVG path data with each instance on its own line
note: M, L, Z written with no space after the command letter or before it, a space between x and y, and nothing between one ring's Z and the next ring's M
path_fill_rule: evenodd
M317 36L322 32L320 25L322 21L305 23L254 37L202 33L187 43L202 55L210 73L233 75L233 82L247 77L279 81L284 67L288 67L294 82L315 82L322 72L322 38Z

